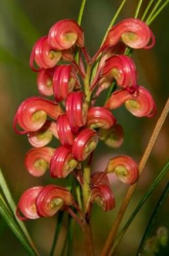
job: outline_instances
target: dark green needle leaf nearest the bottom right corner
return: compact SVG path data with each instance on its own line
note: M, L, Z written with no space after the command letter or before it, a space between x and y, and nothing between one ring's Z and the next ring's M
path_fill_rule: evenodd
M138 252L137 252L137 255L142 255L142 252L143 252L143 249L144 249L144 246L146 244L146 241L148 240L149 236L150 236L150 233L151 233L151 230L152 230L152 227L153 227L153 224L155 223L155 220L165 202L165 200L167 199L168 197L168 193L169 193L169 183L167 183L166 187L165 187L165 190L163 191L163 194L161 195L156 207L155 207L155 210L153 211L152 215L151 215L151 218L150 218L150 221L149 221L149 224L148 226L146 227L146 230L145 230L145 233L144 233L144 236L142 238L142 241L141 241L141 244L138 248Z

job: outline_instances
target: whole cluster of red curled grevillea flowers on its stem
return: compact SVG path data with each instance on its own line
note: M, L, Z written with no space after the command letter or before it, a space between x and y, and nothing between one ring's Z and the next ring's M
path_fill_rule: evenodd
M151 39L152 43L148 45ZM14 130L27 134L28 141L34 147L25 157L30 174L39 177L49 168L51 177L65 178L71 172L83 186L82 162L91 163L98 140L114 148L120 147L123 142L123 129L111 109L125 103L129 112L138 117L150 117L156 113L151 94L137 85L134 61L124 55L127 46L148 49L154 43L155 38L149 27L133 18L113 26L93 58L84 46L83 30L74 20L57 22L48 36L36 41L30 66L38 72L39 92L46 96L54 95L54 101L36 96L26 99L14 117ZM99 54L99 65L91 77ZM60 60L67 63L58 65ZM121 88L111 94L104 107L94 106L99 94L113 81ZM17 124L23 130L18 130ZM46 147L53 136L61 143L56 149ZM94 202L104 211L114 208L115 200L107 179L112 172L128 184L136 182L139 176L133 158L123 155L111 159L104 172L95 172L90 177L88 211ZM72 207L83 216L68 189L56 185L37 186L23 193L17 214L20 219L35 219L53 216L58 210L64 210L80 224Z

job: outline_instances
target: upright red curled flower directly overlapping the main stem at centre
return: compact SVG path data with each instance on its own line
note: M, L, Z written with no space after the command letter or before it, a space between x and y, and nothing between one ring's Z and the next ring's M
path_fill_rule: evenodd
M72 92L65 103L66 113L73 133L86 124L88 106L82 92Z

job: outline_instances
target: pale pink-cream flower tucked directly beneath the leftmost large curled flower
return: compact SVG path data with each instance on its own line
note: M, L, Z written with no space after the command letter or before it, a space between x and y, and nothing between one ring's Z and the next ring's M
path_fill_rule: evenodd
M41 129L36 132L30 132L27 136L33 147L44 147L52 140L53 136L58 139L56 123L47 120Z

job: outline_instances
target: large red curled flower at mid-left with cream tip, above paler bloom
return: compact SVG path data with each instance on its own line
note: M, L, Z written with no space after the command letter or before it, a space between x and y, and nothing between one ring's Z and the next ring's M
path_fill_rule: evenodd
M57 103L50 100L40 97L28 98L19 106L14 117L13 128L19 134L39 130L46 122L47 114L53 119L57 119L58 115L62 114L62 109ZM17 130L17 123L26 132Z

